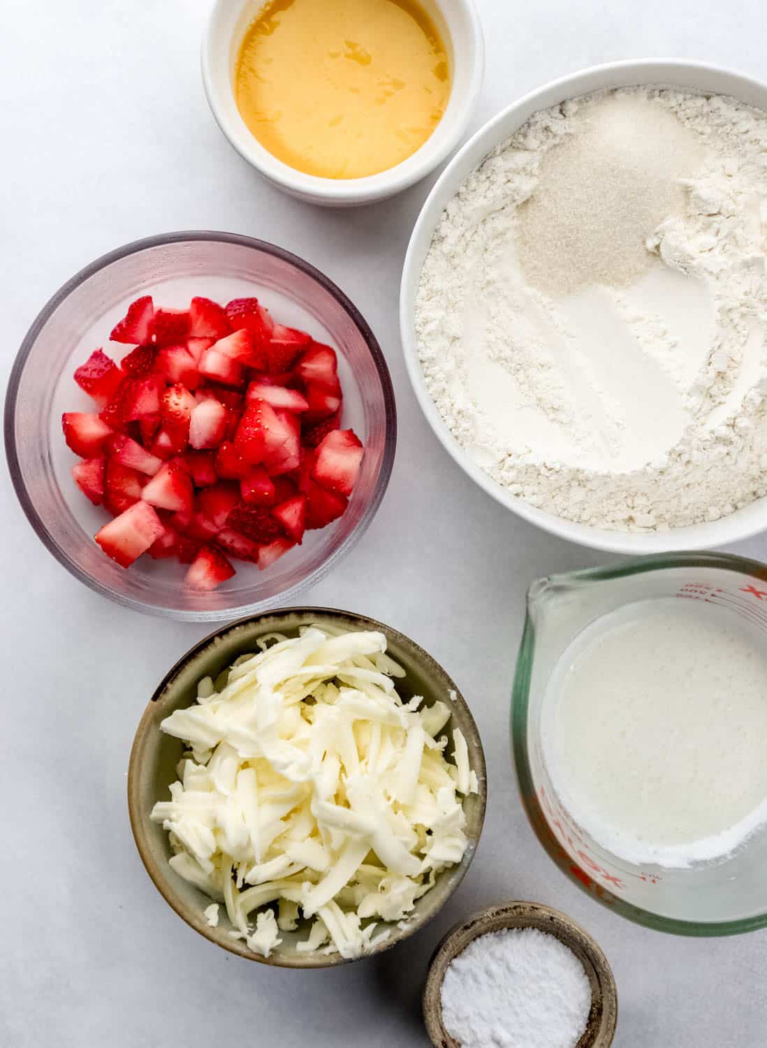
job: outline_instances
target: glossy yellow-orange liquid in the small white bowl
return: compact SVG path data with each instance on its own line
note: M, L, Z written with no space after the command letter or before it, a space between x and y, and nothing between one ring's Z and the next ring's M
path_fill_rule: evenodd
M235 70L242 118L291 168L361 178L411 156L439 124L450 63L411 0L271 0Z

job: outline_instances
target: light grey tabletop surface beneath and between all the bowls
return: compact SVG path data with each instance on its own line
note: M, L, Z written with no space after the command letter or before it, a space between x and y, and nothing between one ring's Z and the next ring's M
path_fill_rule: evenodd
M545 81L613 59L683 57L767 79L764 0L478 6L487 73L475 128ZM525 590L539 575L602 558L497 505L421 416L401 358L397 290L429 183L352 212L314 209L266 185L203 100L206 9L207 0L0 0L3 385L48 297L137 237L235 231L324 269L384 347L399 445L370 530L306 603L390 623L445 665L484 739L487 823L439 919L378 960L301 974L210 945L150 883L125 802L141 709L207 630L132 614L76 583L34 536L2 471L0 1045L424 1045L418 995L437 940L470 911L517 898L558 907L601 943L618 983L619 1048L761 1048L767 932L696 941L635 927L565 879L522 812L506 725ZM739 551L765 556L767 539Z

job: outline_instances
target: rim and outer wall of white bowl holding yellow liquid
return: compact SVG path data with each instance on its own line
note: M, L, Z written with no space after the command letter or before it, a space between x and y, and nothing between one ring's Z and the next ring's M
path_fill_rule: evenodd
M448 30L451 17L442 0L435 0ZM236 5L242 8L243 0L216 0L202 37L201 69L202 83L207 104L224 137L229 145L247 160L268 181L300 199L330 205L355 205L372 203L408 189L433 171L456 148L466 132L468 123L479 102L484 79L485 44L474 0L452 0L461 18L461 36L451 34L455 51L455 64L460 63L466 70L465 87L459 92L451 91L447 108L423 145L400 163L361 178L321 178L307 175L284 163L265 149L240 116L234 101L232 84L222 83L215 69L216 30L224 13ZM454 77L455 81L455 77ZM227 104L228 103L228 104Z

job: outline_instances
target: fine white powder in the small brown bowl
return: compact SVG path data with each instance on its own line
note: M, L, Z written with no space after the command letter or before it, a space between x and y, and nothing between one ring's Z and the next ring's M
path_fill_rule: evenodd
M591 987L571 949L534 927L481 935L447 965L442 1024L461 1048L575 1048Z

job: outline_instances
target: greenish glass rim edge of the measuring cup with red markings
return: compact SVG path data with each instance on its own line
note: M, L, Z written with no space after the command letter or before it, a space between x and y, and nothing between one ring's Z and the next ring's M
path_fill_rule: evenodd
M745 932L755 932L759 929L767 927L767 910L752 917L740 918L738 920L726 921L691 921L679 920L675 917L664 917L660 914L644 910L634 903L614 895L609 889L599 886L599 894L595 894L589 883L583 878L585 871L575 867L575 863L568 855L568 861L563 863L563 849L551 833L548 822L543 814L543 809L538 800L535 788L530 770L530 762L527 749L527 722L528 722L528 699L530 684L530 670L532 667L532 656L535 647L535 625L530 612L530 597L544 592L552 584L567 581L571 586L588 584L590 582L606 582L613 578L621 578L635 574L643 574L648 571L665 570L669 568L681 567L707 567L719 568L723 571L740 571L744 574L753 575L767 582L767 565L747 556L740 556L737 553L708 553L708 552L674 552L659 553L654 556L632 558L622 563L608 565L607 567L584 568L577 571L557 572L544 578L539 578L530 584L527 591L527 609L525 614L525 625L520 641L520 650L517 656L517 667L514 671L513 683L511 686L511 709L509 717L510 742L511 742L511 763L514 768L517 786L530 827L544 848L554 866L565 874L565 876L582 892L585 892L591 899L599 902L608 910L618 913L621 917L643 927L653 929L658 932L667 932L673 935L691 936L694 938L717 938L728 935L742 935ZM579 874L574 872L578 869ZM589 880L590 875L586 874Z

